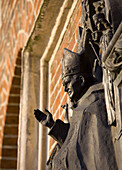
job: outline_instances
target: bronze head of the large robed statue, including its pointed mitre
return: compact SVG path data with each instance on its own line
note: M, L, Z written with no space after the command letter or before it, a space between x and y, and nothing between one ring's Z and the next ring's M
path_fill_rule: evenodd
M88 88L87 79L92 77L92 67L85 49L81 53L64 49L61 71L64 91L72 102L77 102Z

